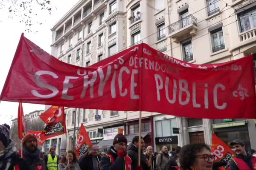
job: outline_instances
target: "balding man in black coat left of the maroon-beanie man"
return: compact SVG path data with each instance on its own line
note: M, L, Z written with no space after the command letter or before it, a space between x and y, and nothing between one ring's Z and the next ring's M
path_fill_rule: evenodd
M79 161L81 170L99 170L101 156L98 155L98 146L93 144L89 149L89 154L83 156Z

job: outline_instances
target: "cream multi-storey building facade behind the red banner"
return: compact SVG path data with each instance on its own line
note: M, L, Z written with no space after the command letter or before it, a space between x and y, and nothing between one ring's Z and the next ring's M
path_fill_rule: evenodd
M256 0L80 0L51 29L52 55L87 67L144 42L189 63L227 62L256 53L255 16ZM129 142L138 134L138 112L65 111L69 148L81 123L102 151L119 129ZM195 142L211 144L212 133L224 142L240 138L247 148L256 148L255 120L170 115L143 112L143 137L154 150L163 145L174 150ZM179 132L173 133L173 127Z

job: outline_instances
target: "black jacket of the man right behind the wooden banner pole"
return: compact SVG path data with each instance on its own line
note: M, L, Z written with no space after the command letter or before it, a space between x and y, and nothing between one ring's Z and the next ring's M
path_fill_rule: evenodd
M135 170L138 166L138 148L133 143L130 143L127 147L127 154L131 158L132 170ZM142 152L140 156L140 165L143 170L150 170L150 167L147 165L146 156Z

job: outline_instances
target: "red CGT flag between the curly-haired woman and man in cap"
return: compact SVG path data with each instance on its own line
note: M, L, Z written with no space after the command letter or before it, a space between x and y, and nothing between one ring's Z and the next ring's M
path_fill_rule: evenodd
M230 170L230 161L235 153L215 134L212 134L212 154L215 155L215 161L227 162L225 167L219 167L220 170Z

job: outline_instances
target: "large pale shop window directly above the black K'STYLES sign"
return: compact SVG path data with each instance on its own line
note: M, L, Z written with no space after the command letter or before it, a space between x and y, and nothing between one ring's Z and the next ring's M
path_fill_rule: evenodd
M175 136L172 127L177 127L176 118L156 121L156 137Z

